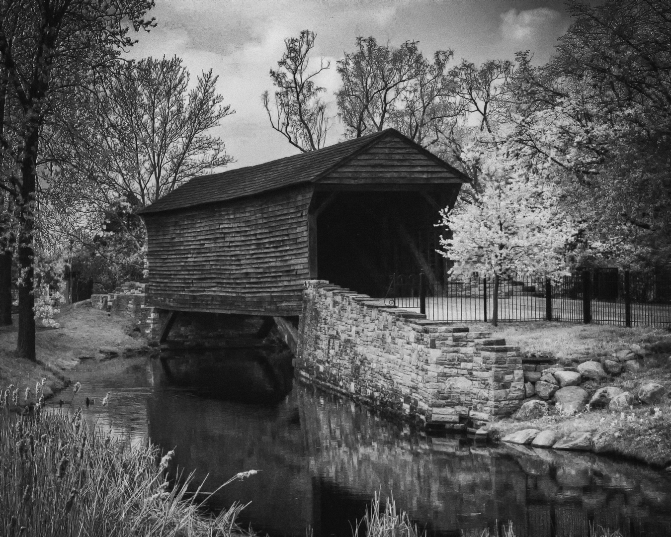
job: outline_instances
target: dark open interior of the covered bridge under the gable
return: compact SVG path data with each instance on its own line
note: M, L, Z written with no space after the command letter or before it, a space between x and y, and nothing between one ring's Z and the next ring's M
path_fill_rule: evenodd
M315 193L318 215L317 277L373 297L383 297L389 276L424 271L444 278L438 211L440 191L341 191Z

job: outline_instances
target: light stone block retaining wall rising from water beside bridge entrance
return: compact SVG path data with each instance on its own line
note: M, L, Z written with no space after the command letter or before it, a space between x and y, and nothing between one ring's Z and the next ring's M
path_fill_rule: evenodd
M305 282L299 336L300 379L418 422L482 426L524 398L519 348L327 281Z

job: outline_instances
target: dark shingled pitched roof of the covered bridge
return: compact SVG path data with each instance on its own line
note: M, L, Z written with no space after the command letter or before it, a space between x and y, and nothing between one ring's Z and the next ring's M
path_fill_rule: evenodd
M419 144L415 144L397 130L386 129L340 144L333 144L317 151L271 160L263 164L256 164L256 166L246 166L245 168L227 170L212 175L194 177L188 183L164 195L164 197L141 209L138 213L150 214L173 211L206 203L229 201L301 183L313 183L387 136L400 138L440 164L440 166L444 166L450 173L454 173L455 177L464 182L468 181L468 178L456 168L425 150Z

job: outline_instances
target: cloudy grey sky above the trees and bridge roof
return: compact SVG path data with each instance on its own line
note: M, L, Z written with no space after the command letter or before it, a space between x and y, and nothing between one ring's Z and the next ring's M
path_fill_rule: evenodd
M138 34L127 56L179 56L194 81L213 70L223 103L235 110L211 132L235 159L227 169L298 152L270 127L261 95L272 94L268 72L276 68L285 38L301 30L317 35L312 61L330 62L319 84L335 115L335 62L354 50L358 36L393 46L419 41L428 57L451 49L454 63L512 60L519 50L544 63L570 24L558 0L156 0L152 15L156 28ZM343 130L336 119L327 144L342 141Z

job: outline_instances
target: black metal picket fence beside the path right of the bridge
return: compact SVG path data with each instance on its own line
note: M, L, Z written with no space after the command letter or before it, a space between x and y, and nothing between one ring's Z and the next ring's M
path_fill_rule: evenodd
M671 325L671 277L629 271L584 271L557 281L544 278L450 278L393 275L385 303L419 309L427 318L488 322L494 301L499 321L567 321L623 326Z

